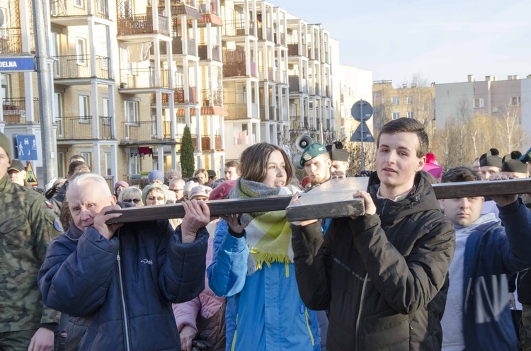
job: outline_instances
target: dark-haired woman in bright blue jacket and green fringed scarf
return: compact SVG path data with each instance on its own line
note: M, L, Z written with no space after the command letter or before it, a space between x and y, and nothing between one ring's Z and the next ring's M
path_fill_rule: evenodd
M241 154L228 198L288 195L295 171L284 150L255 144ZM227 350L320 350L316 312L302 302L285 211L222 216L210 289L227 297Z

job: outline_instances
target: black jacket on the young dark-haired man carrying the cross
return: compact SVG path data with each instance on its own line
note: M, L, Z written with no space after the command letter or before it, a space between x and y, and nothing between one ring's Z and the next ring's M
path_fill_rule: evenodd
M433 188L418 173L399 202L377 199L377 214L292 226L302 300L329 309L328 350L440 350L447 271L455 231L440 212Z

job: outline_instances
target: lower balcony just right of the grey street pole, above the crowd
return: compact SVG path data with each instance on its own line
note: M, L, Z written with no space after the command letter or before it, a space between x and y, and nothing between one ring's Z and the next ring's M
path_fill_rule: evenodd
M73 116L57 117L57 140L94 140L94 139L113 139L112 122L113 117L101 117L100 134L94 137L92 132L92 117L90 116Z

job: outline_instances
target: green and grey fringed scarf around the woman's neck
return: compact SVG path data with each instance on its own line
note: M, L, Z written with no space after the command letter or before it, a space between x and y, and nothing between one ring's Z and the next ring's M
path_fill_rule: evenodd
M273 195L289 195L298 189L292 185L281 188L271 188L263 183L239 178L229 193L229 198L249 198ZM248 263L248 275L260 270L265 263L293 263L293 249L291 246L291 223L286 219L285 211L256 212L244 214L242 223L249 221L246 226L246 242L251 253Z

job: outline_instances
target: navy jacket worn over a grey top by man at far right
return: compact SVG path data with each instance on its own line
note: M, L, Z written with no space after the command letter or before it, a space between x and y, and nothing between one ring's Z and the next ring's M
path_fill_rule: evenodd
M507 279L531 266L531 214L520 199L499 209L505 230L493 222L478 226L464 251L467 350L517 350Z

